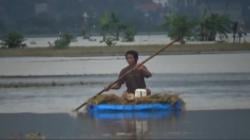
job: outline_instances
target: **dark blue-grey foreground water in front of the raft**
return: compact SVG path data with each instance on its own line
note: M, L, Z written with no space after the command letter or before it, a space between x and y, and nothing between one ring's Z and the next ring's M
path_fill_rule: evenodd
M0 138L249 139L250 110L183 111L162 118L97 119L88 114L0 114Z

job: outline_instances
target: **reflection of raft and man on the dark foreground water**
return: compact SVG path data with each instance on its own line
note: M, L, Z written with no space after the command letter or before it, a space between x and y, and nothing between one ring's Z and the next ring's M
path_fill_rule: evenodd
M95 135L105 138L148 139L154 121L167 121L170 125L181 115L181 111L134 111L93 112L78 114L78 118L90 117Z

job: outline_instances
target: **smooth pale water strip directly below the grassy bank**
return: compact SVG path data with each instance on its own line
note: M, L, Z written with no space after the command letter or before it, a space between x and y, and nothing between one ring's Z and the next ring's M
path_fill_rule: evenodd
M147 56L141 56L140 61ZM146 66L153 73L246 73L250 53L161 55ZM117 74L126 66L123 56L105 57L11 57L0 58L3 75Z

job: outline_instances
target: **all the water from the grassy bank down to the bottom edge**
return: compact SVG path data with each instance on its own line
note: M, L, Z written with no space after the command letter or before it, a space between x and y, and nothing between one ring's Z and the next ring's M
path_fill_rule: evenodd
M123 57L0 58L0 138L39 132L47 138L249 139L249 60L249 53L157 56L146 65L153 72L148 87L176 92L186 110L105 119L71 110L117 78Z

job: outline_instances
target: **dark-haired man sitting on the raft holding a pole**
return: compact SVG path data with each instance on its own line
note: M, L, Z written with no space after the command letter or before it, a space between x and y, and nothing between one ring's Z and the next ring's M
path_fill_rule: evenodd
M136 65L139 65L137 64L138 53L136 51L134 50L127 51L125 53L125 58L128 62L128 66L126 66L121 70L119 78L121 78L122 75L124 75L128 70L132 69ZM117 84L111 87L111 89L120 89L121 85L125 83L127 86L127 91L124 95L134 94L136 89L146 89L147 94L149 95L150 90L147 89L144 78L149 78L151 76L152 76L151 72L144 65L142 65L137 69L135 69L134 71L127 74L121 80L119 80Z

